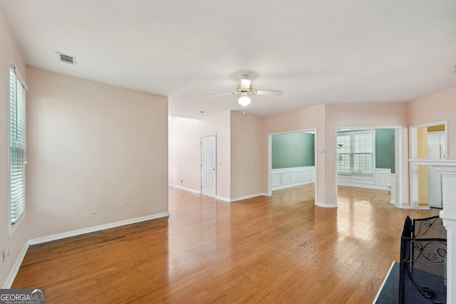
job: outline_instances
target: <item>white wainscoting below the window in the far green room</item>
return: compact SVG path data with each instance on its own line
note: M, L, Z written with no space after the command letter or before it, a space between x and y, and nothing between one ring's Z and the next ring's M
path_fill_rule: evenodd
M374 175L338 174L337 184L349 187L390 190L391 170L377 168Z

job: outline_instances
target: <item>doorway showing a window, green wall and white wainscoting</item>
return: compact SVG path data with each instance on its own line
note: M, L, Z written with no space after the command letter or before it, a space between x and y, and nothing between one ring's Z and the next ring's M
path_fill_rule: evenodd
M336 127L335 174L338 186L390 192L401 208L401 127Z

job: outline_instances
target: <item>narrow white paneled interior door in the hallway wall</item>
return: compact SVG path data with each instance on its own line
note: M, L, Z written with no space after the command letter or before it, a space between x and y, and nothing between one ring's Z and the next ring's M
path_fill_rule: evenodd
M215 196L215 135L201 137L201 194Z

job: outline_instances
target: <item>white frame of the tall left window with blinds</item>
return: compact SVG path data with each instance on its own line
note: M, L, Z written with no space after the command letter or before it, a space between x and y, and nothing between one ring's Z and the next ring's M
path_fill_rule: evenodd
M21 206L23 207L23 211L19 214L19 216L16 216L16 219L14 220L13 218L13 199L12 199L12 190L13 190L13 179L12 179L12 174L11 174L11 167L12 167L12 149L13 146L12 140L11 140L11 132L12 132L12 127L11 127L11 93L12 90L14 89L11 86L11 71L14 70L14 75L15 75L15 80L16 80L16 85L21 85L21 87L24 89L24 113L23 113L23 126L24 126L24 140L23 140L23 145L22 145L22 150L23 150L23 155L24 157L24 190L23 190L23 196L24 196L24 201L21 203ZM21 72L19 71L19 68L17 65L14 64L14 62L9 58L9 69L8 69L8 164L9 164L9 234L13 233L14 229L19 225L19 223L24 219L24 216L26 214L26 164L27 164L27 127L26 127L26 90L27 90L27 85L24 80L24 78L21 75ZM17 88L17 87L15 87ZM18 90L15 89L16 96L18 93ZM16 103L16 109L17 110L17 103Z

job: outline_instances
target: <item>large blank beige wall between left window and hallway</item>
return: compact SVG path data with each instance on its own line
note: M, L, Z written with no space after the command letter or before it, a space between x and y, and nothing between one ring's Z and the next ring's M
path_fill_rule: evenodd
M29 239L167 212L167 98L27 74Z

